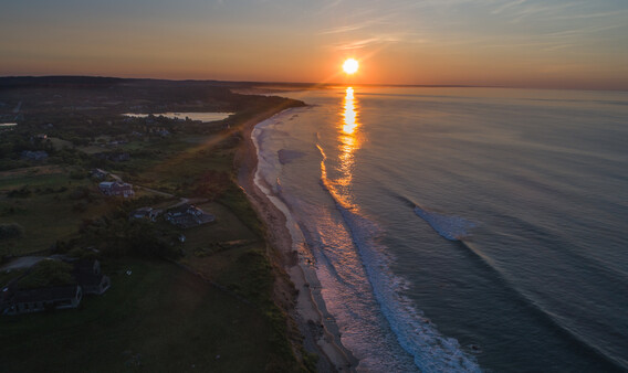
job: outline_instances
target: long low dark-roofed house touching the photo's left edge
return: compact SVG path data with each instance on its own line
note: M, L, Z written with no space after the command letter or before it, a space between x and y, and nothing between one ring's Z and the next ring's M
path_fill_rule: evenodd
M3 292L10 291L3 289ZM36 289L15 290L4 315L40 312L53 309L76 308L83 299L80 285L53 286Z

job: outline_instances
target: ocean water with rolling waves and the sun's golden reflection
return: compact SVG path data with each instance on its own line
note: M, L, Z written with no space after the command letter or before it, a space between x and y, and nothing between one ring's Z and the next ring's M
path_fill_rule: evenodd
M358 370L628 370L628 93L287 95L258 182Z

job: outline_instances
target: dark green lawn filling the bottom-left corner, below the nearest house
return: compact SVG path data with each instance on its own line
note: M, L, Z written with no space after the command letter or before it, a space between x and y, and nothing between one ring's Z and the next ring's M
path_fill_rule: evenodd
M77 310L0 318L1 370L261 372L276 363L259 308L168 263L103 270L112 288Z

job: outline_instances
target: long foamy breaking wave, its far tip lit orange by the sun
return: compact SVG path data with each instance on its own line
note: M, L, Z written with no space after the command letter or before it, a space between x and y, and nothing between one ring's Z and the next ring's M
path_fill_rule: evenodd
M408 298L395 291L404 287L405 280L389 269L390 258L386 248L377 243L380 228L365 217L358 206L347 203L335 183L327 179L326 156L320 145L317 148L323 157L322 185L350 231L375 297L399 344L414 356L415 364L422 372L481 372L474 358L467 355L456 339L441 335Z

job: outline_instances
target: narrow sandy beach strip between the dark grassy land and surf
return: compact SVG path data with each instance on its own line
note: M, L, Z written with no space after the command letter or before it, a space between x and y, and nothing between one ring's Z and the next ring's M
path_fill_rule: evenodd
M275 281L275 296L283 299L290 318L294 320L303 335L303 348L318 354L318 372L355 372L358 360L341 342L341 333L335 319L329 315L321 295L321 284L315 269L306 263L306 258L293 248L293 239L286 226L286 215L278 207L255 182L258 170L258 148L252 139L257 125L274 116L286 113L284 109L259 121L248 122L242 128L243 147L239 157L238 184L247 193L253 209L264 221L268 232L268 243L279 254L280 265L292 281L281 284ZM273 257L272 253L270 256ZM286 285L295 299L287 299Z

